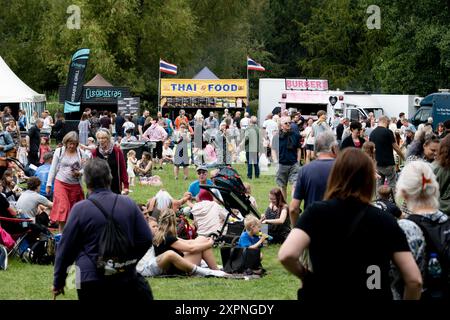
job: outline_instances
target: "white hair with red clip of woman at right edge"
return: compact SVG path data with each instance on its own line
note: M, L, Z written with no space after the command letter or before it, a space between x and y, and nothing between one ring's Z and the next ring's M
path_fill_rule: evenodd
M403 168L397 181L397 202L405 196L410 210L417 206L439 209L439 184L429 164L412 161Z

